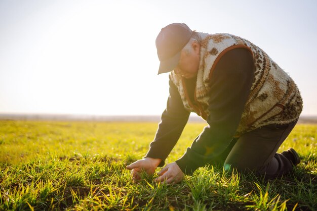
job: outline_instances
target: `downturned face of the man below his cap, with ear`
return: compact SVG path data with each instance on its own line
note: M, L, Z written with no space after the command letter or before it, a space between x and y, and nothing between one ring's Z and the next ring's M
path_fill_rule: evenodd
M193 41L192 49L182 50L178 65L174 69L176 75L181 75L185 78L193 78L197 75L200 63L200 45Z

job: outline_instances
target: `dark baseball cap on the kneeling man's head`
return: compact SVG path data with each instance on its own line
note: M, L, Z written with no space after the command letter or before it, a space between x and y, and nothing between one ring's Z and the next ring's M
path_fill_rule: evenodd
M172 23L161 29L155 40L157 56L160 60L159 73L167 73L176 68L180 52L190 40L192 31L184 23Z

